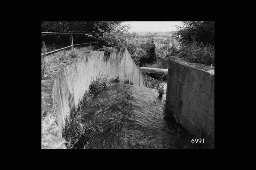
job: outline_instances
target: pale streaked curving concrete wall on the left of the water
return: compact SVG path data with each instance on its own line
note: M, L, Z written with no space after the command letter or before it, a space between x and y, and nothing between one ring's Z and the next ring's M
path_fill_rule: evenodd
M93 51L62 68L53 85L47 87L52 91L49 92L51 95L42 98L42 103L47 101L49 105L47 115L51 115L49 119L42 118L42 148L65 148L61 137L64 118L78 108L90 82L99 74L108 74L110 80L119 76L121 82L129 80L137 86L144 84L140 70L126 49L110 55Z

